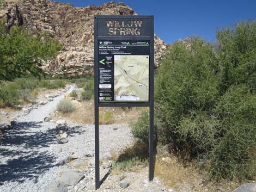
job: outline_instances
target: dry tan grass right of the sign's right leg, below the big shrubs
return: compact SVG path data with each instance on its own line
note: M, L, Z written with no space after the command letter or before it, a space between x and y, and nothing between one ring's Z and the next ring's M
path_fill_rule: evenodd
M155 176L161 178L166 187L182 191L184 185L198 192L233 191L241 183L237 181L211 181L198 170L196 162L185 162L174 154L157 154Z

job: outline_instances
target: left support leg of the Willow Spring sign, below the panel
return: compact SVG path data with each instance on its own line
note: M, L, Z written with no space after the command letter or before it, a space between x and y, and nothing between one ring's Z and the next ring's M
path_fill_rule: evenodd
M95 189L100 188L99 106L95 106Z

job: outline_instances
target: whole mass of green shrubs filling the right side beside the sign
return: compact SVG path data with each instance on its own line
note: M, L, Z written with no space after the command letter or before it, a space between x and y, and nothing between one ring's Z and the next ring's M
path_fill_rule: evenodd
M256 176L256 21L217 30L220 48L199 37L175 42L156 71L162 144L190 154L211 178ZM143 114L132 133L147 141Z

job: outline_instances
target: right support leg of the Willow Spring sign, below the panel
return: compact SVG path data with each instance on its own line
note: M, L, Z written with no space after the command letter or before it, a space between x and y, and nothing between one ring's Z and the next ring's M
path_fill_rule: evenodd
M154 104L150 106L149 115L149 181L153 181L154 178Z

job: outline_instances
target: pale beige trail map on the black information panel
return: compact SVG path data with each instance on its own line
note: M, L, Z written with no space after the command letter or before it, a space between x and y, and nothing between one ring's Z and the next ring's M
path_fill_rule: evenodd
M148 101L149 55L114 55L115 101Z

